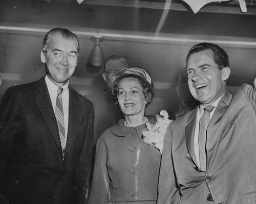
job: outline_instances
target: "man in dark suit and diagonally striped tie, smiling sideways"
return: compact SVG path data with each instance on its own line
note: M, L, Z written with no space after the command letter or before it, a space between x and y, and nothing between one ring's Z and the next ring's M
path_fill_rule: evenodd
M46 76L7 89L0 106L0 193L10 203L86 203L91 178L93 104L69 86L79 42L49 31Z

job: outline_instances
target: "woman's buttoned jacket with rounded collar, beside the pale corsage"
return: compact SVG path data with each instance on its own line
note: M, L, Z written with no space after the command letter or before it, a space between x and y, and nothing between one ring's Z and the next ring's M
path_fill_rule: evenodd
M157 199L161 153L143 142L144 124L127 127L123 122L97 141L90 204Z

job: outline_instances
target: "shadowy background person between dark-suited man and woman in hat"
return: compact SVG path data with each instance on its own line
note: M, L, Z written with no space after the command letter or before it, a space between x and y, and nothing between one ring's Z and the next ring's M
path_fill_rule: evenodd
M116 74L128 66L128 62L124 57L118 55L109 56L104 62L105 71L102 73L103 77L99 75L91 85L88 97L90 97L95 107L95 141L103 131L123 118L122 111L113 102L111 84ZM108 85L107 88L106 85Z

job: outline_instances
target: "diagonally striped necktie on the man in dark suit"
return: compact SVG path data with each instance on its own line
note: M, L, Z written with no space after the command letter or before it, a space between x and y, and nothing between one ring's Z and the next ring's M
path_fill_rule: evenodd
M61 143L62 155L64 156L64 151L66 146L66 135L65 135L65 121L64 121L64 115L63 115L63 106L62 106L62 97L61 97L62 90L63 88L58 87L55 116L56 116L58 129L59 129L59 138Z

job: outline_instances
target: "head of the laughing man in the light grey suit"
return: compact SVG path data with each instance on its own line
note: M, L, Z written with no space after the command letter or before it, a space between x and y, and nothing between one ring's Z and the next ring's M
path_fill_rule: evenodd
M229 61L217 44L196 44L189 50L186 64L189 90L200 104L211 105L225 93Z

